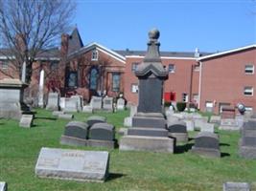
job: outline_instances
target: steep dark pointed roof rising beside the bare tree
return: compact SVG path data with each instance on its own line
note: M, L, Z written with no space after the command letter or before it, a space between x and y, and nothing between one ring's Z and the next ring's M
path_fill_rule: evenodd
M75 28L68 40L68 54L79 51L83 47L78 28Z

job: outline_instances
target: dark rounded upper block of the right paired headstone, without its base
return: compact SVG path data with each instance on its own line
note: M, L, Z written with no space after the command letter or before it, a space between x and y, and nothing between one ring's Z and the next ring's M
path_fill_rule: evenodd
M90 139L114 140L115 127L107 123L95 123L90 127Z

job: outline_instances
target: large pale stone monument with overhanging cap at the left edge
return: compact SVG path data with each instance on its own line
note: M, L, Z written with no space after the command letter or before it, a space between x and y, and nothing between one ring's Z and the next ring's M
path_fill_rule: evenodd
M24 103L24 89L28 85L19 79L4 78L0 80L0 117L19 120L30 108Z

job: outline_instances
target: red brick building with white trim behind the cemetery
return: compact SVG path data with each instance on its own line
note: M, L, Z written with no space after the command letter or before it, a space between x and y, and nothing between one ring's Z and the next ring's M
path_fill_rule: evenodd
M217 114L222 106L235 107L237 103L256 110L255 48L256 45L251 45L212 54L161 52L162 63L169 71L163 98L193 102L201 111ZM61 96L79 94L89 101L94 95L124 94L128 103L137 103L139 90L134 71L145 53L113 51L98 43L83 46L75 29L70 35L61 36L60 49L37 57L29 96L37 97L39 72L44 69L46 96L50 91L58 91ZM18 76L2 54L0 68L0 78Z

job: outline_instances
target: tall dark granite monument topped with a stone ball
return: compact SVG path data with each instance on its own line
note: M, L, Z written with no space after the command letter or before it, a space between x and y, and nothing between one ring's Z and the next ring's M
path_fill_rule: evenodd
M120 150L174 152L174 139L168 138L162 114L163 82L168 72L161 63L159 36L156 29L149 32L148 52L135 71L139 79L139 104L128 135L121 138Z

